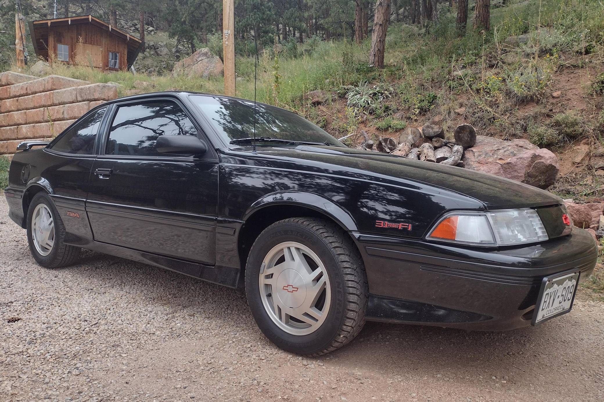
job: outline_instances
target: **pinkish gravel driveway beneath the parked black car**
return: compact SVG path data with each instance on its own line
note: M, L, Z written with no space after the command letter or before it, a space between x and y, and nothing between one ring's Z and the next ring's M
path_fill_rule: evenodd
M604 304L582 294L538 328L368 323L305 359L239 290L94 252L37 266L0 198L0 401L604 400Z

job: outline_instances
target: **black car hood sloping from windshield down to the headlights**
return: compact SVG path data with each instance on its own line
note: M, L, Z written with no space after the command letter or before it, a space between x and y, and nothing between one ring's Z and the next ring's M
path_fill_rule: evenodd
M245 147L248 148L248 147ZM522 208L562 203L560 197L530 185L460 167L422 162L353 148L299 145L257 147L258 156L298 159L306 165L342 176L370 176L376 182L404 186L412 181L472 197L486 209ZM321 166L316 166L321 164ZM315 166L313 166L315 165Z

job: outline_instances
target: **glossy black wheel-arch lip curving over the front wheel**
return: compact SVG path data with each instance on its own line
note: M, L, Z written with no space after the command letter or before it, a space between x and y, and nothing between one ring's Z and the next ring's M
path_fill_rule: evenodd
M243 220L248 220L255 212L271 205L305 206L306 208L315 209L315 211L323 212L323 214L328 215L331 219L335 220L338 225L342 226L345 231L350 232L358 230L355 220L344 208L323 196L315 193L306 193L304 191L277 191L275 193L266 194L266 196L256 200L249 206L243 216Z

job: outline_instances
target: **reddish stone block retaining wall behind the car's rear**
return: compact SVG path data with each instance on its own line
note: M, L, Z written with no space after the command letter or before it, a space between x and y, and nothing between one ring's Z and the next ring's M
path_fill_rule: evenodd
M49 75L0 74L0 155L19 142L50 141L88 110L117 98L117 86Z

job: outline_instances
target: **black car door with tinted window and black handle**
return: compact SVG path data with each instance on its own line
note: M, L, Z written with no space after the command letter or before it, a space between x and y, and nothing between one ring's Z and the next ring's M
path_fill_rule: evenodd
M218 161L176 98L115 104L86 201L95 241L215 263ZM205 155L159 153L161 135L194 135Z

